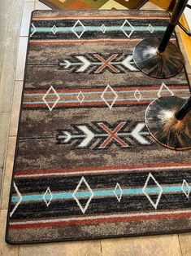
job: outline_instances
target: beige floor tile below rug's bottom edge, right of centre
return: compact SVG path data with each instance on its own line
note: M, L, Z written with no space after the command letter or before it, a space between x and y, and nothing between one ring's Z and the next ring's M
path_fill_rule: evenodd
M177 235L143 236L102 241L102 256L180 256Z

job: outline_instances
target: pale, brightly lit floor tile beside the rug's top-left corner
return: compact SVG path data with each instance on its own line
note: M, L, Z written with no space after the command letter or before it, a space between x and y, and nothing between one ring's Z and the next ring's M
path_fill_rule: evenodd
M30 25L31 12L34 10L35 2L24 2L24 12L20 29L20 36L27 37Z

